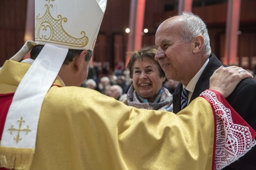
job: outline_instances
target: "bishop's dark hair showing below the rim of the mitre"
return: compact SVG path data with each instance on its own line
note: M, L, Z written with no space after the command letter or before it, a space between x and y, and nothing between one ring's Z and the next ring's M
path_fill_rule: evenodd
M37 45L37 46L34 46L33 49L31 50L31 53L30 53L30 56L32 59L35 59L39 53L41 52L41 50L43 49L43 45ZM83 50L73 50L73 49L68 49L68 52L67 52L67 55L66 55L66 58L64 60L64 64L69 64L71 61L73 61L74 57L80 55L80 53L82 52ZM86 61L90 61L91 57L93 56L93 52L88 50L88 53L85 57L85 60Z

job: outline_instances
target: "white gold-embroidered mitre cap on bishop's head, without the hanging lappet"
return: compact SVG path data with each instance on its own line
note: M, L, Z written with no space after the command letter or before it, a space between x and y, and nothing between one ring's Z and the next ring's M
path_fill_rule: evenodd
M93 51L105 8L106 0L35 0L35 42Z

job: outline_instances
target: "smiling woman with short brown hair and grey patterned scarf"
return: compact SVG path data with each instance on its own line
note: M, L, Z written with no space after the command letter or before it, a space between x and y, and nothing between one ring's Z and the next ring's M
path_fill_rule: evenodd
M128 106L136 108L172 111L172 95L163 87L166 81L160 64L155 60L157 49L145 47L130 55L128 69L132 85L128 89Z

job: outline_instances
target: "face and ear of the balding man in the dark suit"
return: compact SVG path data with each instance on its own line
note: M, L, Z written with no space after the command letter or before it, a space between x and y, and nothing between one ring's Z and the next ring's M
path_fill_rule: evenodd
M192 58L192 43L183 42L180 20L173 18L163 22L156 32L158 51L155 59L167 79L187 82L190 67L196 59Z

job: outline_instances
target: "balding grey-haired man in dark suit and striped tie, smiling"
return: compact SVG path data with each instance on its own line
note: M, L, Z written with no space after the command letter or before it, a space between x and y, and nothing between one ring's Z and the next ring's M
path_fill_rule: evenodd
M173 93L173 112L178 113L201 92L209 88L213 72L225 66L211 53L210 38L205 23L196 15L183 12L162 22L156 32L159 47L156 59L167 79L179 81ZM235 67L235 66L234 66ZM237 71L244 70L237 67ZM232 82L230 82L232 83ZM183 88L187 93L183 96ZM256 130L256 81L245 79L226 98L228 103ZM230 140L232 144L232 140ZM224 170L255 170L256 148L226 167Z

